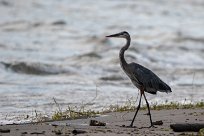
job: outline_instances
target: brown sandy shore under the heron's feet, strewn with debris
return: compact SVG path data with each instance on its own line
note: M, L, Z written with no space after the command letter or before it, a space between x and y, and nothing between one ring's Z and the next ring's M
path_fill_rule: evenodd
M173 132L170 124L175 123L204 123L203 109L175 109L175 110L152 110L153 121L162 121L162 125L156 128L150 126L149 117L145 115L147 111L141 110L138 113L134 128L122 127L129 125L134 112L113 112L100 117L88 119L65 120L23 125L3 125L0 126L0 136L27 136L27 135L74 135L73 130L81 132L79 135L101 136L101 135L179 135L194 134L197 132ZM91 119L105 122L106 126L89 126Z

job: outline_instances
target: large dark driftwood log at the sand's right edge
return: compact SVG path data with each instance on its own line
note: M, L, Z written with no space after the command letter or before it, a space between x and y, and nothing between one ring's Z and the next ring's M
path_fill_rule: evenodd
M175 132L185 132L193 131L198 132L200 129L204 128L204 123L183 123L183 124L171 124L170 127Z

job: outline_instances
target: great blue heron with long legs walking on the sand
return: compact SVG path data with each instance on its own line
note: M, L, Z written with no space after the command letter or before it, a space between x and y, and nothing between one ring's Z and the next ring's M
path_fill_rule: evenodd
M152 117L150 113L150 108L149 108L149 103L147 101L147 98L145 96L145 92L151 93L151 94L156 94L157 91L160 92L171 92L171 88L164 83L156 74L154 74L151 70L145 68L144 66L137 64L137 63L127 63L124 58L124 53L125 51L129 48L130 46L130 35L128 32L120 32L117 34L109 35L106 37L117 37L117 38L125 38L127 40L127 43L125 46L123 46L120 50L119 53L119 58L120 58L120 65L124 72L128 75L132 83L140 90L140 99L139 99L139 105L137 107L137 110L135 112L135 115L133 117L133 120L130 124L130 127L133 127L133 122L135 120L135 117L137 116L138 110L140 109L140 104L141 104L141 98L142 95L145 98L147 108L148 108L148 115L150 118L150 123L151 126L154 126L152 123Z

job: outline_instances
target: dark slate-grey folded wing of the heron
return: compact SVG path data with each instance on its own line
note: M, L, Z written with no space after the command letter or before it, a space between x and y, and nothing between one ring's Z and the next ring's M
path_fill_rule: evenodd
M134 78L145 87L146 92L154 94L156 94L157 91L171 92L171 88L151 70L136 63L131 63L130 65L132 65L131 71Z

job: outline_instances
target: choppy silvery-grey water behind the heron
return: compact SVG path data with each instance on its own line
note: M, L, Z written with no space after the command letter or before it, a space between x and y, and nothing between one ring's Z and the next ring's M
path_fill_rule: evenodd
M62 109L135 100L138 91L119 66L125 41L105 38L123 30L132 36L127 61L172 88L147 94L150 103L203 101L202 0L1 0L0 17L1 123L51 115L53 97Z

